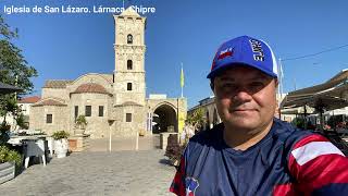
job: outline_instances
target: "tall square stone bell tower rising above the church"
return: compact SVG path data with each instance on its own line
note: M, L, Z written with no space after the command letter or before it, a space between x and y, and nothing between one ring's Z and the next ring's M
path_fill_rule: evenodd
M145 106L146 17L129 7L120 15L114 15L114 103L132 102Z

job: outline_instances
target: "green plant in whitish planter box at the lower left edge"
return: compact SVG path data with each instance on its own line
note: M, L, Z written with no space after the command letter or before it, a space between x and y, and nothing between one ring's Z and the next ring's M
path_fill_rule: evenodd
M0 145L0 184L12 180L15 172L20 171L22 156L5 145Z

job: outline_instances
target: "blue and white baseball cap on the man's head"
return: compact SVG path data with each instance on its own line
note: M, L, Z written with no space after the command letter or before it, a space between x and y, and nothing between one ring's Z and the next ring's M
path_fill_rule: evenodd
M277 77L277 64L271 47L259 39L241 36L224 42L214 57L208 78L234 65L247 65Z

